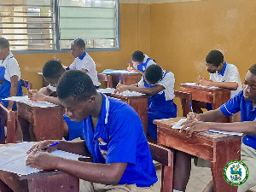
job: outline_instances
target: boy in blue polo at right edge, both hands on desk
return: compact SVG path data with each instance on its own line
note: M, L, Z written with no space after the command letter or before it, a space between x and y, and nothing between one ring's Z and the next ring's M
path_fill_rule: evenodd
M249 177L247 182L238 187L238 192L247 191L247 189L250 189L256 185L256 64L249 68L244 80L244 84L244 89L236 96L231 98L230 101L224 103L224 105L222 105L220 108L213 111L197 114L195 120L188 120L184 122L183 128L181 129L181 131L184 131L184 129L189 127L186 130L189 136L191 136L194 132L209 130L234 131L247 134L242 138L241 160L248 166ZM215 122L217 119L223 116L229 117L230 115L239 111L241 112L241 122L210 123ZM190 113L189 119L194 119L193 117ZM174 169L178 170L179 167L174 167ZM190 170L188 170L187 174L189 174L189 172ZM177 180L183 182L182 185L185 186L187 182L183 179L185 175L186 174L179 174L178 176L174 175L174 177L179 177ZM205 191L213 190L210 188L210 186L208 186Z

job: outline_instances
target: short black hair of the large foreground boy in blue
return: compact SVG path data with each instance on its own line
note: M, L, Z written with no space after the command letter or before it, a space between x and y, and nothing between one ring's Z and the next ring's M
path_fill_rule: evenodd
M89 75L79 70L64 73L57 85L57 96L60 99L72 96L74 100L86 101L96 93L96 88Z

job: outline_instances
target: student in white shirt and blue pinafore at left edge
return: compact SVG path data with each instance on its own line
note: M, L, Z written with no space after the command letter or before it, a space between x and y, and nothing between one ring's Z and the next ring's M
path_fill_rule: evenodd
M9 96L22 96L20 84L20 66L14 55L9 51L9 41L6 38L0 38L0 102L9 111L16 109L16 103L4 101ZM2 133L0 119L0 140Z

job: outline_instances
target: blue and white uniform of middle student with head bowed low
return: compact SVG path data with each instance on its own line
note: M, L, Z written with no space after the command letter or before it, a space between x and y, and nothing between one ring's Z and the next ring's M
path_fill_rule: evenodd
M157 138L157 128L153 123L154 119L166 119L177 117L177 106L173 102L174 98L174 74L163 70L163 77L157 84L165 87L158 94L148 98L148 135ZM155 84L156 85L156 84ZM139 87L152 88L155 85L148 84L143 78L139 81Z

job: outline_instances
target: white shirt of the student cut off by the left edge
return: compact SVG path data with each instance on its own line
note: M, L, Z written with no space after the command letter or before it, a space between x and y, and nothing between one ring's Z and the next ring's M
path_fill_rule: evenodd
M20 66L11 51L5 60L0 61L0 67L5 67L4 79L10 82L10 78L18 76L20 80Z

